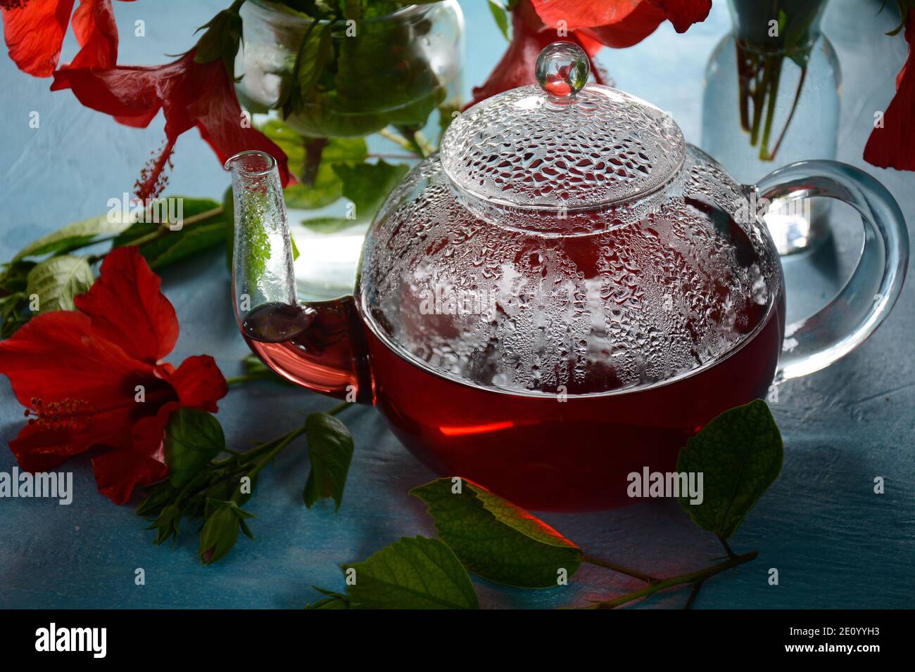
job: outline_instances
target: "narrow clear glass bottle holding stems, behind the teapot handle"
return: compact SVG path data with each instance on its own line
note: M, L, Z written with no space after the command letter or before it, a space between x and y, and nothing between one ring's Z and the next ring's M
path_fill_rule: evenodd
M840 71L821 31L826 0L728 0L733 31L705 71L702 146L741 182L780 165L835 158ZM781 254L828 232L828 205L766 217Z

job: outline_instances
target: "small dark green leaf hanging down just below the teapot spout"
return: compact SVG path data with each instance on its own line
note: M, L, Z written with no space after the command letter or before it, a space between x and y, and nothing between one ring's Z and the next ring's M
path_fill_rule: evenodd
M308 508L324 497L333 497L335 510L343 501L343 487L352 461L352 435L328 413L311 413L305 421L311 471L303 499Z

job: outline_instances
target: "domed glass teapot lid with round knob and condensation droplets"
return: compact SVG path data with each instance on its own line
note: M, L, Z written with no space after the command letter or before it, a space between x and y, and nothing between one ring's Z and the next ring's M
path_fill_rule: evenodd
M451 182L491 204L533 210L600 208L651 193L684 162L671 115L623 91L588 84L572 42L541 51L540 83L460 114L441 143Z

